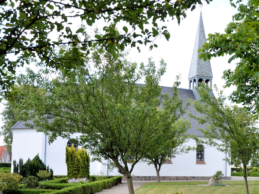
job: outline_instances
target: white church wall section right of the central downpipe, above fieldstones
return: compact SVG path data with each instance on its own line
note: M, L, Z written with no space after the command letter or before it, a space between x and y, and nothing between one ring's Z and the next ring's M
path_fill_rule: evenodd
M196 144L194 140L190 140L185 145L194 146ZM215 147L207 145L203 145L203 147L206 164L196 164L196 151L189 151L189 153L173 158L171 160L173 164L163 164L160 176L212 176L218 170L221 170L226 176L231 176L231 166L226 165L226 161L222 160L226 154L219 152ZM128 165L130 166L129 163ZM116 174L118 174L116 169L109 172L109 175ZM154 165L148 166L144 162L139 162L134 166L132 176L157 176L157 174Z

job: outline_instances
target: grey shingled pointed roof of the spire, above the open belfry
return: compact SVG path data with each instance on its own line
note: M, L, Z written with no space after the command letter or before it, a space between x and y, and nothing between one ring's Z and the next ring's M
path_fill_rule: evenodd
M199 20L198 30L196 34L196 39L195 39L195 45L193 49L193 58L192 58L190 72L188 76L189 80L196 76L207 77L207 78L213 77L210 61L209 60L204 61L203 59L199 59L199 53L197 53L198 49L201 48L205 42L206 42L206 36L205 36L202 16L200 14L200 20Z

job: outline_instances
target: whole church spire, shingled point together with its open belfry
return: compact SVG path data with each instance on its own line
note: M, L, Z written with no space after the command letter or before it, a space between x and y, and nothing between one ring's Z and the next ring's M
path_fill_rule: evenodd
M193 85L192 89L194 89L194 86L197 85L199 82L205 82L206 84L209 84L212 88L212 70L210 61L204 61L203 59L199 59L199 53L197 53L198 49L202 47L202 45L206 42L206 36L202 21L202 16L200 14L200 20L198 25L198 30L196 34L195 39L195 45L193 49L193 58L191 62L190 72L189 72L189 89L191 89L191 85Z

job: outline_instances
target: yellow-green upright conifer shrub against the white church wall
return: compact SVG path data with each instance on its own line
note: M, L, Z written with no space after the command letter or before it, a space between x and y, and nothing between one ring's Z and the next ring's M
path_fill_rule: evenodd
M83 148L75 150L66 146L67 179L90 178L90 157Z

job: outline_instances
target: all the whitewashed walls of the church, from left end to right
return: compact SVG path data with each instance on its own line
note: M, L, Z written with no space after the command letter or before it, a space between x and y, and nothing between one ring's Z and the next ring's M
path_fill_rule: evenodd
M75 134L79 136L80 134ZM73 135L74 136L74 135ZM72 137L75 138L75 137ZM45 135L36 130L14 130L12 145L12 160L19 161L21 157L24 162L30 157L33 159L37 153L45 164L53 169L54 175L66 175L67 168L65 162L65 147L68 140L58 137L50 145L46 141L46 158L45 158ZM190 140L186 146L194 146L195 141ZM206 164L196 164L196 151L189 151L183 155L178 155L171 161L173 164L163 164L160 170L160 176L212 176L217 170L221 170L227 176L230 176L231 167L222 159L226 157L225 153L217 151L214 147L204 147L204 162ZM90 159L92 156L90 155ZM13 162L13 161L12 161ZM103 160L107 164L107 160ZM130 166L130 164L129 164ZM227 166L227 169L226 169ZM100 171L107 174L107 166L100 162L90 162L90 174L100 174ZM13 172L13 165L12 165ZM115 168L108 172L108 175L119 175ZM153 165L148 166L144 162L135 165L132 172L134 176L156 176Z

